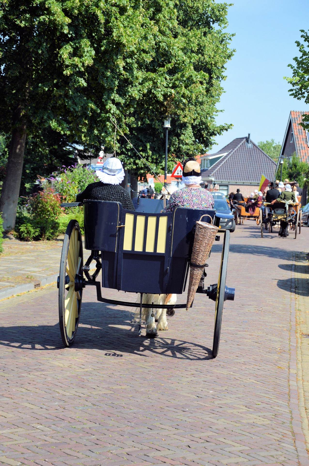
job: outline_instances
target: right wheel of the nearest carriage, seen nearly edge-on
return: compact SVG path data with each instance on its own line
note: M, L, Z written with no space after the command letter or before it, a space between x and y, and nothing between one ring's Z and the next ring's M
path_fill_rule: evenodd
M221 255L221 266L220 266L218 284L217 284L215 330L214 330L213 345L212 345L212 356L213 357L217 356L218 349L219 349L229 247L230 247L230 232L229 230L226 230L224 233L224 241L223 241L222 255Z

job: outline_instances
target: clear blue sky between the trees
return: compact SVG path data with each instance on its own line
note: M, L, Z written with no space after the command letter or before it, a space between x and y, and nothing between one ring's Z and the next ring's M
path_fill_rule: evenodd
M233 1L233 0L231 0ZM216 152L236 137L275 139L282 144L290 110L309 105L289 96L288 64L298 55L295 41L300 29L309 29L308 0L234 0L229 8L230 33L235 55L227 63L225 93L217 108L224 110L217 123L233 128L216 138Z

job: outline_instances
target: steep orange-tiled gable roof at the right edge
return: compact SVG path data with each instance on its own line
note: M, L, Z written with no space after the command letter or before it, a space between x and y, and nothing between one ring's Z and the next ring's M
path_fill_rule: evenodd
M280 155L291 155L286 154L286 147L289 139L289 135L291 131L294 134L296 155L302 160L302 162L309 163L309 147L308 141L306 137L306 131L300 126L299 123L302 123L302 115L308 115L309 112L301 112L301 111L294 111L291 110L289 114L288 124L285 130L283 143L281 146Z

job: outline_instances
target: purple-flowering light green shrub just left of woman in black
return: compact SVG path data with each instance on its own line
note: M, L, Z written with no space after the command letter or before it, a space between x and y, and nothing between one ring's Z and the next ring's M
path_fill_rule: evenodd
M60 171L54 171L49 180L63 202L74 202L86 186L99 181L94 171L79 164L63 166Z

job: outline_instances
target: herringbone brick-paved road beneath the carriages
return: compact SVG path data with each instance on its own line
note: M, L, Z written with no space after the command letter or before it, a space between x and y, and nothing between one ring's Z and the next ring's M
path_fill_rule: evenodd
M307 251L309 228L297 240L261 239L248 221L231 239L227 285L237 291L225 303L216 359L214 303L202 295L146 340L127 309L99 304L87 288L70 349L61 346L56 289L1 302L0 461L308 465L289 329L293 251ZM210 283L219 258L215 243Z

